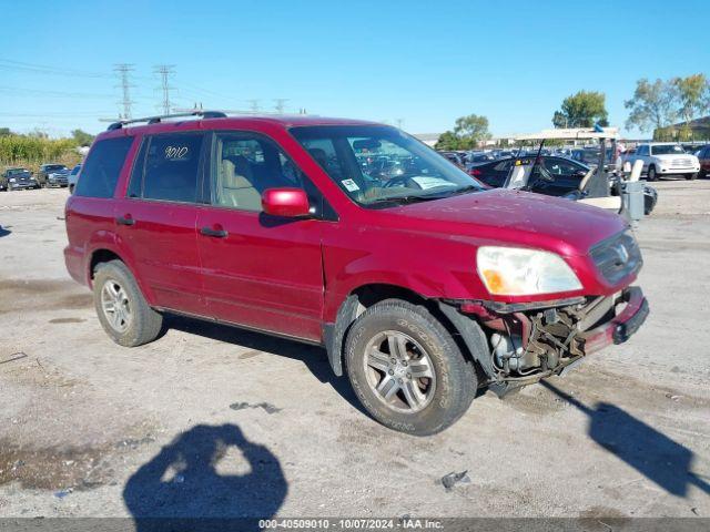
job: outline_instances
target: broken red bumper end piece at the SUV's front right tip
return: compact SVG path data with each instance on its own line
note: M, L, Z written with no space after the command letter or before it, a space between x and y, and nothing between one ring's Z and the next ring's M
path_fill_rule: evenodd
M643 325L649 315L649 305L641 288L632 286L623 290L621 303L626 303L626 307L616 317L582 335L585 355L623 344Z

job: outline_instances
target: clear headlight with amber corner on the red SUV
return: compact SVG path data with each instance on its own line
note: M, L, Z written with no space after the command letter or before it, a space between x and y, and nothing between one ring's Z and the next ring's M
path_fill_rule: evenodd
M481 246L478 276L490 294L530 296L578 290L581 283L555 253L519 247Z

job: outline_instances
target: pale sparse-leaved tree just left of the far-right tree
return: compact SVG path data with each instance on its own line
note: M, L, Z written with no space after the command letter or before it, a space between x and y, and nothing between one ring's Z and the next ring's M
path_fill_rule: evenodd
M627 129L663 130L678 117L678 89L672 82L657 79L651 83L641 79L636 82L633 96L623 105L630 110Z

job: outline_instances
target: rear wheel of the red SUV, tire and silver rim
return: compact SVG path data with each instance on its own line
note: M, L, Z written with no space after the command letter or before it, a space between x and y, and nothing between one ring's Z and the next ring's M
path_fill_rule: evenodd
M93 301L103 330L120 346L141 346L160 335L162 315L148 305L133 274L121 260L97 266ZM111 305L119 307L119 311L106 310L106 306Z

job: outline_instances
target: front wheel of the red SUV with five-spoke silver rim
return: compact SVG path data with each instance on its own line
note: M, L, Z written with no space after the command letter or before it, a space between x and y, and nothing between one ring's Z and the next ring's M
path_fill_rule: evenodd
M478 388L473 362L444 326L423 306L398 299L373 305L355 320L345 342L345 366L367 412L385 427L413 436L450 427ZM413 377L417 372L423 376Z

